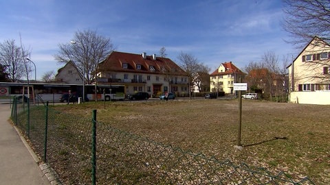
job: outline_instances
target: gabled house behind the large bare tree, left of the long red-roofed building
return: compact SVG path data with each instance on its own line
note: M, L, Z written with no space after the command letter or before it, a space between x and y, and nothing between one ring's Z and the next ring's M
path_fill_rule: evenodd
M78 73L74 62L69 61L61 69L58 69L55 81L65 84L83 84L83 77Z

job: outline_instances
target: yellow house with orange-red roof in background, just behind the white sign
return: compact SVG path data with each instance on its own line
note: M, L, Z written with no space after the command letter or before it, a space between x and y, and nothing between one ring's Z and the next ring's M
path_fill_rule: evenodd
M244 73L232 62L222 63L218 69L210 74L210 90L224 91L225 94L234 94L234 83L243 79Z

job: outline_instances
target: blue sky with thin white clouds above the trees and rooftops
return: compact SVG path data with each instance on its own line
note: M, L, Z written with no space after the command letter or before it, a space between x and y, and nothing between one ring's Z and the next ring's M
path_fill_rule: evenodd
M21 34L38 79L63 66L54 60L58 44L87 29L111 38L116 51L152 55L165 47L171 60L179 63L182 51L210 72L230 61L243 70L267 51L280 60L298 53L284 41L280 0L1 0L0 7L0 42L20 45Z

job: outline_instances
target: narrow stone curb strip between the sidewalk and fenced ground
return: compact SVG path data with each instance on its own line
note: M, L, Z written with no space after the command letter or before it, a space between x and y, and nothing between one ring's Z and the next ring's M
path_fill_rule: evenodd
M50 181L50 184L52 184L52 185L60 185L61 182L58 181L57 174L54 171L54 169L52 169L52 167L50 167L48 164L44 163L42 160L39 159L38 156L36 156L36 153L34 153L33 149L30 147L30 145L25 140L25 138L22 136L22 134L19 131L19 129L15 125L12 125L12 126L16 130L17 134L19 134L19 137L21 138L21 140L24 143L25 147L30 152L32 158L34 159L34 162L36 162L36 164L38 164L39 168L43 172L43 175L45 175L47 177L47 180Z

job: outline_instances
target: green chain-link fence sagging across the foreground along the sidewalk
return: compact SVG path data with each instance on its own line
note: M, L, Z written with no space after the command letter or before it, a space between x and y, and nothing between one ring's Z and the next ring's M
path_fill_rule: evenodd
M314 184L163 145L97 122L94 113L83 119L14 100L12 121L63 184Z

